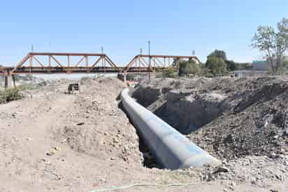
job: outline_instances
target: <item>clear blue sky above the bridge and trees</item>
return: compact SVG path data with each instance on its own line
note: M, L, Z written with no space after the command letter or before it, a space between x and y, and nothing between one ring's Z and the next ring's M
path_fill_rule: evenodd
M258 25L288 17L287 0L250 1L1 1L0 64L15 64L31 50L104 52L117 64L147 52L191 55L215 50L231 60L261 58L249 46Z

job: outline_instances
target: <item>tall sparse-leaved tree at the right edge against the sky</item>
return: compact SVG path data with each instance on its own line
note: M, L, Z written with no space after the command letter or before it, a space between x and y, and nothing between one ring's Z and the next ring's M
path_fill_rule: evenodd
M283 53L288 49L288 19L278 22L277 28L278 32L270 26L259 26L252 39L252 47L265 53L273 74L280 74Z

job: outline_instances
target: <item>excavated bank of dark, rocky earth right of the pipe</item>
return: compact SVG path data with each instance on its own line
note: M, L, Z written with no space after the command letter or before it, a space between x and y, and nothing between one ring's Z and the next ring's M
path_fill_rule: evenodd
M277 77L156 78L134 91L138 102L219 158L288 154L287 96L288 80Z

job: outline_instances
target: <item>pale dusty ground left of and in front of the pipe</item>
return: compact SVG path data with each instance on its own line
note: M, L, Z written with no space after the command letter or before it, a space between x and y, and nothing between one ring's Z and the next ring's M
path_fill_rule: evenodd
M94 191L131 184L141 185L115 191L287 191L285 153L222 158L213 152L223 160L220 168L145 167L145 147L117 100L124 83L85 79L80 92L68 95L72 82L52 81L0 105L0 191ZM196 136L203 137L198 131ZM197 138L192 135L187 137ZM208 141L197 143L208 150Z

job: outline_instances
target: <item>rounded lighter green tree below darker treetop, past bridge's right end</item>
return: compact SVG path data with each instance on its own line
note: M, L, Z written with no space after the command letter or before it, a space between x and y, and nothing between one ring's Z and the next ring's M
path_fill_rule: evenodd
M214 76L226 73L226 63L222 58L209 56L205 67L208 68Z

